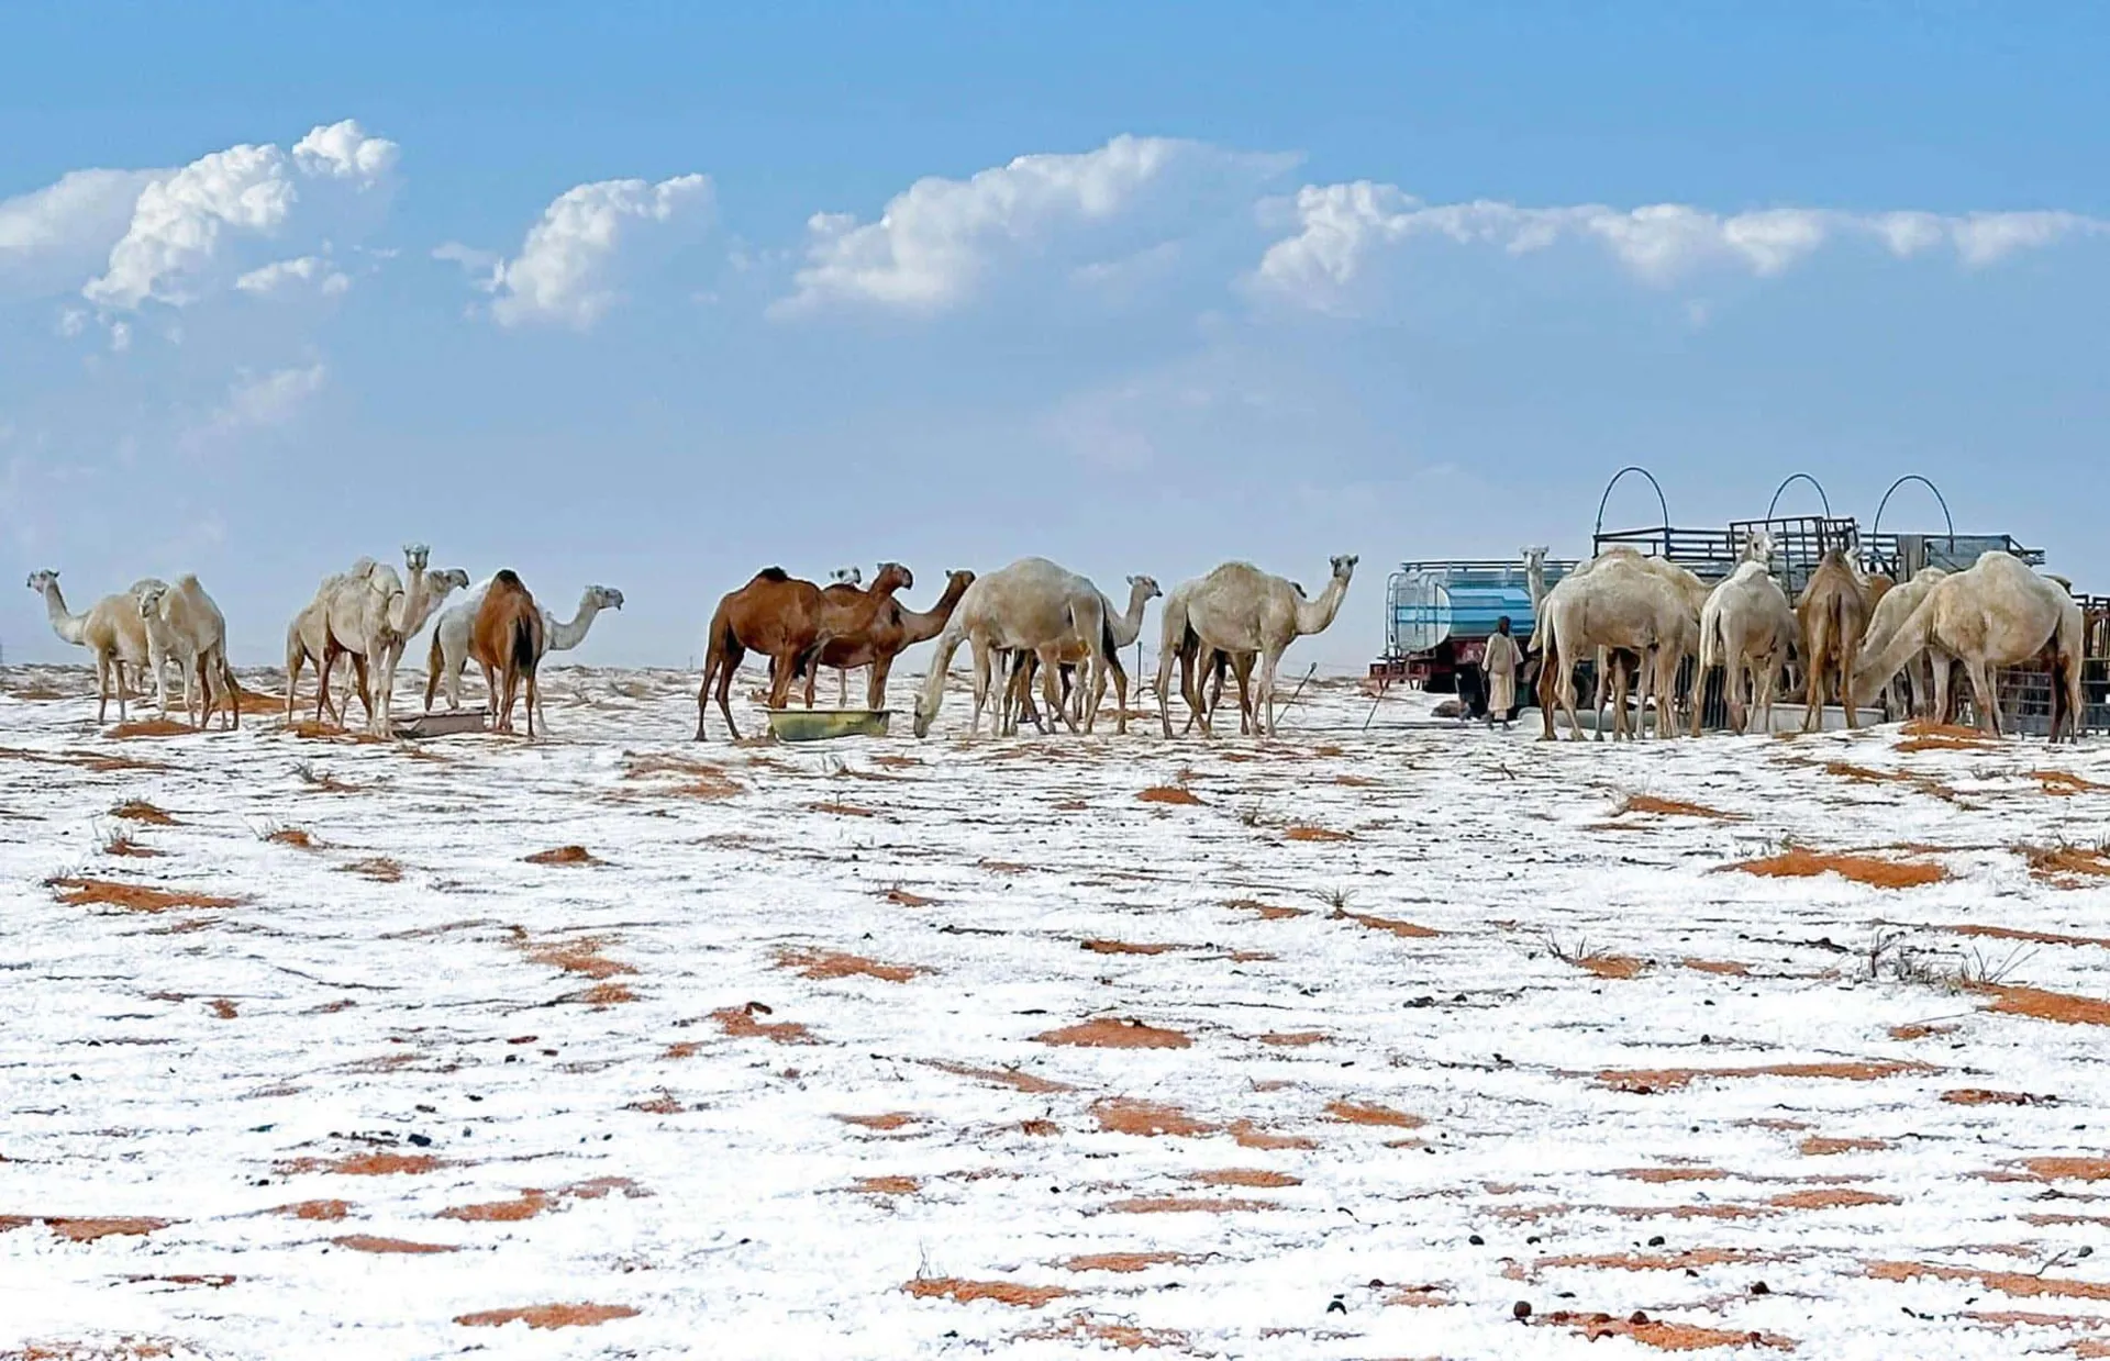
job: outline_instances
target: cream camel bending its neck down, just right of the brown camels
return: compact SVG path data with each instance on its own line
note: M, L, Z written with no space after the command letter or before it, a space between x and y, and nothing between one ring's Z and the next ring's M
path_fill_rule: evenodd
M968 736L981 728L981 709L990 698L996 701L990 730L1002 734L1004 692L998 684L996 658L1017 650L1040 656L1040 686L1049 711L1059 713L1063 724L1076 732L1076 720L1055 694L1055 677L1061 669L1061 654L1076 644L1085 650L1089 665L1087 684L1099 679L1112 648L1106 614L1106 597L1089 578L1044 557L1021 557L987 576L977 576L937 635L931 671L924 675L922 694L916 696L916 736L928 736L931 724L937 722L939 705L945 701L945 673L952 669L960 644L973 644L975 650L975 713L966 726ZM1091 732L1095 717L1097 707L1087 707L1085 732Z

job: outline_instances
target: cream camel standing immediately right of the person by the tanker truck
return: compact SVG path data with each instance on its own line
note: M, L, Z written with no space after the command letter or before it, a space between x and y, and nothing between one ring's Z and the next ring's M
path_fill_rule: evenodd
M1587 572L1561 578L1545 599L1540 641L1545 663L1538 669L1538 707L1545 715L1540 741L1553 741L1553 707L1568 713L1568 741L1580 741L1576 717L1574 665L1589 652L1631 652L1642 667L1654 658L1654 688L1665 703L1656 707L1656 734L1667 734L1677 663L1696 644L1688 597L1663 574L1650 572L1642 557L1599 557ZM1601 671L1599 671L1601 675ZM1648 734L1648 711L1639 715L1637 732ZM1627 736L1627 671L1612 686L1612 734ZM1599 734L1601 736L1601 734Z

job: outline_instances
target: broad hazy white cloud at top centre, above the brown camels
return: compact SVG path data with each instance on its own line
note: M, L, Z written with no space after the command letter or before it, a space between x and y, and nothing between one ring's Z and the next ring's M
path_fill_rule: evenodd
M971 298L1004 257L1057 255L1072 270L1129 257L1190 226L1209 198L1249 192L1289 165L1285 156L1120 135L1093 152L1019 156L968 179L933 175L895 194L878 222L814 213L806 264L776 310L865 304L939 312ZM1129 230L1110 230L1123 226Z

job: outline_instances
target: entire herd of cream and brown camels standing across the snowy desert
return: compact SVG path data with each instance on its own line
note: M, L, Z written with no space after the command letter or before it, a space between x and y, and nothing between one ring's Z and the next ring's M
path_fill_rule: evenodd
M1610 688L1614 736L1646 736L1648 703L1656 701L1656 734L1673 732L1673 709L1684 703L1690 730L1701 728L1701 686L1724 669L1730 726L1745 732L1756 713L1770 730L1772 698L1789 660L1804 677L1804 728L1817 726L1827 696L1838 696L1846 724L1878 692L1891 713L1910 709L1948 720L1952 671L1964 669L1981 728L2000 732L1994 673L2036 665L2051 673L2051 739L2078 741L2083 690L2083 616L2061 578L2040 576L2007 553L1986 553L1967 570L1929 568L1893 587L1886 576L1863 574L1834 549L1810 574L1798 601L1770 574L1772 542L1760 532L1743 547L1743 561L1709 587L1699 576L1633 549L1612 549L1580 563L1551 591L1545 589L1545 549L1526 549L1536 629L1530 654L1540 658L1538 707L1545 739L1553 736L1555 709L1568 715L1570 736L1580 736L1574 667L1597 663L1597 707ZM433 570L424 544L405 544L403 572L361 557L346 572L327 576L287 627L287 722L293 720L302 669L316 669L314 715L342 724L348 701L331 694L340 663L352 671L352 690L365 707L367 728L392 732L397 663L409 639L433 622L424 707L445 692L449 709L462 703L462 669L483 671L494 728L513 730L515 705L525 698L528 736L540 715L540 660L553 650L584 641L601 610L620 610L622 593L587 587L570 620L542 610L521 578L496 572L471 587L460 568ZM717 601L711 614L703 686L696 692L696 741L705 739L709 705L717 701L726 730L738 739L730 688L741 660L768 658L768 705L783 709L791 686L804 677L810 709L823 669L838 673L838 703L848 696L848 673L869 669L865 703L886 707L886 679L901 652L935 641L935 656L916 694L914 730L926 736L945 696L954 654L973 650L975 709L968 736L990 711L992 734L1017 732L1019 722L1047 730L1034 707L1034 682L1053 717L1072 732L1091 732L1114 688L1116 732L1129 724L1129 677L1120 648L1144 629L1144 610L1163 597L1156 698L1165 736L1171 724L1171 677L1188 705L1188 728L1213 732L1226 671L1239 684L1241 730L1274 732L1277 669L1302 635L1325 631L1340 612L1355 576L1355 555L1331 559L1331 574L1317 597L1298 582L1228 561L1177 584L1171 593L1150 576L1131 576L1127 608L1116 608L1089 578L1044 557L1023 557L977 576L947 572L931 610L909 610L897 595L916 584L901 563L880 563L871 584L855 568L838 570L827 587L789 576L781 568L757 572ZM241 686L228 665L226 618L196 576L175 584L143 578L106 595L87 614L72 614L59 593L57 572L36 572L30 589L44 597L53 631L95 656L103 722L112 692L124 717L127 669L154 677L162 715L169 713L167 667L184 682L184 713L205 726L226 711L226 726L241 724ZM441 610L449 595L462 599ZM435 620L437 616L437 620ZM1686 694L1677 677L1692 660ZM1629 732L1627 696L1639 677L1639 720ZM1213 690L1205 698L1205 690ZM546 730L546 722L542 724ZM1599 726L1601 736L1601 726Z

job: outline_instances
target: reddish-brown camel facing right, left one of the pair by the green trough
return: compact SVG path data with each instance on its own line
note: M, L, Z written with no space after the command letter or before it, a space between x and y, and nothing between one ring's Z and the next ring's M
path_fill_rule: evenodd
M732 722L732 673L741 658L762 652L770 658L770 709L783 709L791 682L814 665L821 650L836 637L852 637L871 627L897 591L912 589L916 576L901 563L880 563L869 591L857 599L827 599L821 587L789 576L783 568L764 568L717 601L703 652L703 686L696 690L696 741L705 741L703 722L717 686L717 709L726 730L741 741Z

